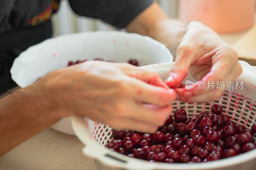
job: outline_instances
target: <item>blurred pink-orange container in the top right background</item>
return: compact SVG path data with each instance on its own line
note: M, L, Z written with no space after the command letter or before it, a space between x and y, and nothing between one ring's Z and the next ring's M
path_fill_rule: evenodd
M179 19L202 21L219 33L250 28L254 16L255 0L179 0Z

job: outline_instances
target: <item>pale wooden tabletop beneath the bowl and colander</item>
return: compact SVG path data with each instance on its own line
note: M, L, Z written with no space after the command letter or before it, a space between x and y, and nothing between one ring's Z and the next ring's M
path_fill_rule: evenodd
M220 37L233 45L245 32L220 34ZM82 154L82 148L76 136L47 128L1 157L0 170L95 170L93 160Z

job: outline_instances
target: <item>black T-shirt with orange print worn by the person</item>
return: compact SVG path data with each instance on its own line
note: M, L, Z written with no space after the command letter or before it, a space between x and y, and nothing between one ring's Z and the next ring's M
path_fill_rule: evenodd
M16 85L13 60L29 46L52 37L51 15L60 0L0 0L0 93ZM69 0L82 16L99 18L117 28L127 26L153 0Z

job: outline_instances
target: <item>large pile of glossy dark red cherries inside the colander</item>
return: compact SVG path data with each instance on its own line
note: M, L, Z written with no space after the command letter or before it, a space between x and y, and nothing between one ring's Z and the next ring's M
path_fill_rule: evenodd
M236 125L222 107L213 105L212 113L188 117L179 108L154 134L114 129L110 150L151 162L196 163L232 157L255 149L256 123L251 130Z

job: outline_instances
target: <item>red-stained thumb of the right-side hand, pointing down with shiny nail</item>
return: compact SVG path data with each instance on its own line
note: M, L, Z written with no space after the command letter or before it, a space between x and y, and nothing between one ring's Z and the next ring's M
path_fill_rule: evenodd
M190 54L187 50L179 53L177 51L174 66L165 80L165 84L170 88L177 87L186 78L193 58Z

